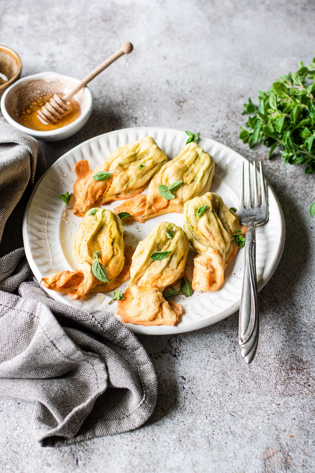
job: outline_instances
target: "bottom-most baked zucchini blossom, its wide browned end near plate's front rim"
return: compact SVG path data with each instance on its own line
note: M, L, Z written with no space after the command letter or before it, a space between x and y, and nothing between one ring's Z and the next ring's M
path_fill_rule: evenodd
M172 238L166 232L171 232ZM140 325L175 325L181 306L167 301L162 291L179 280L185 271L188 238L173 223L158 223L140 241L132 257L130 283L124 299L118 301L122 321Z

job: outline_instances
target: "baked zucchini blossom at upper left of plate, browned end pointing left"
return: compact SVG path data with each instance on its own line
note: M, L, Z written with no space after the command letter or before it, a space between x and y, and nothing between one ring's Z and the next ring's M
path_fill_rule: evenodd
M116 149L94 171L86 159L78 161L75 166L77 180L73 185L74 213L84 217L92 207L143 192L166 161L165 153L151 136Z

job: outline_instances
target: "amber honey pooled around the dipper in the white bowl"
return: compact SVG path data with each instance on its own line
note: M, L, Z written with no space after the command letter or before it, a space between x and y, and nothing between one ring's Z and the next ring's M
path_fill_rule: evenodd
M26 128L31 128L37 131L50 131L66 126L79 118L81 114L80 105L71 98L68 105L71 107L70 112L66 116L61 117L57 123L46 123L37 115L38 110L49 102L51 97L58 92L42 90L40 94L28 97L25 102L15 111L14 119Z

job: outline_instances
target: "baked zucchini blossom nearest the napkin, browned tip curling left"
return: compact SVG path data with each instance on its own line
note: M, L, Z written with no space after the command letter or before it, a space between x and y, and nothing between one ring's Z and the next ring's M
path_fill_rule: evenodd
M111 210L89 210L72 242L78 270L55 272L42 278L41 284L47 289L67 293L73 299L89 292L110 291L128 278L124 250L119 217Z

